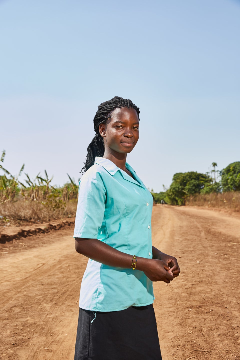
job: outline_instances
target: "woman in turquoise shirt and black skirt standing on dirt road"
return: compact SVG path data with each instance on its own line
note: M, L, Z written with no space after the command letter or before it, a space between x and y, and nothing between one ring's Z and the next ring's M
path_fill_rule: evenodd
M74 360L160 360L153 281L169 283L175 257L151 244L153 197L126 163L139 139L139 108L115 96L94 117L74 229L89 257L80 291Z

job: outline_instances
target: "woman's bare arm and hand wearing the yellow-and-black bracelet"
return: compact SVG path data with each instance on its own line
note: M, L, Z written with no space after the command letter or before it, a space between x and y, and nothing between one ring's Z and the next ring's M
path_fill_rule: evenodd
M78 253L101 264L126 269L130 269L132 265L133 255L118 251L98 239L75 238L75 248ZM170 267L162 260L137 256L136 269L143 271L151 281L169 284L173 280Z

